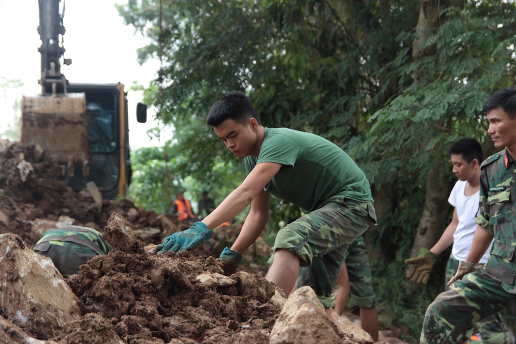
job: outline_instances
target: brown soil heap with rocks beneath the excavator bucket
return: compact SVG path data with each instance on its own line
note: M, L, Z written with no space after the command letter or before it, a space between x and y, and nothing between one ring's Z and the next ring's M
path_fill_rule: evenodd
M129 200L97 201L88 192L73 191L59 179L59 167L44 161L43 154L38 145L0 140L0 234L16 233L34 245L58 222L102 232L114 212L132 223L144 243L157 244L184 229L174 217L137 208Z

